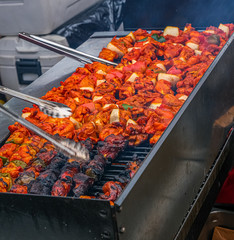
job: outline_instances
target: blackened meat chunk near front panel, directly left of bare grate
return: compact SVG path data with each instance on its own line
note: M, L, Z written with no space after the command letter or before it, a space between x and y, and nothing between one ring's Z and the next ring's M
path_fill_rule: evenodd
M85 195L94 182L93 178L83 173L77 173L74 176L73 181L75 183L75 187L73 188L73 193L75 197Z

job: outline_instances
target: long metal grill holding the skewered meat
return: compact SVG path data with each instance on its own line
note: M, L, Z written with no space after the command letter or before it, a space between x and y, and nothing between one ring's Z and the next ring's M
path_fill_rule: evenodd
M79 49L98 55L115 35L94 34ZM134 154L142 165L114 206L99 199L0 194L1 239L195 239L232 157L232 121L220 124L234 103L234 36L213 61L160 140L128 147L90 194L114 180ZM80 63L65 58L25 89L40 97L58 86ZM6 106L18 114L27 106ZM0 116L2 144L10 119ZM205 210L205 211L202 211ZM190 235L193 233L193 235Z

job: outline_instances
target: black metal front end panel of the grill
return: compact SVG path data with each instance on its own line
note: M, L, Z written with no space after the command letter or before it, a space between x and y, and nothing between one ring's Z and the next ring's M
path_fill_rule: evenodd
M1 239L116 239L108 201L0 194Z

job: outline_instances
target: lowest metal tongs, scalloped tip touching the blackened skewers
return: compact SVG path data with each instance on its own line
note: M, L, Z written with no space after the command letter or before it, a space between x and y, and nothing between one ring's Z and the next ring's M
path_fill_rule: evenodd
M47 141L51 142L58 151L62 152L69 158L75 158L83 161L89 160L89 153L88 150L82 146L79 142L72 141L70 139L62 139L57 136L52 136L42 129L38 128L37 126L33 125L32 123L28 122L27 120L23 119L22 117L17 116L15 113L9 111L4 106L0 105L0 111L13 118L18 123L22 124L29 130L33 131L37 135L45 138Z

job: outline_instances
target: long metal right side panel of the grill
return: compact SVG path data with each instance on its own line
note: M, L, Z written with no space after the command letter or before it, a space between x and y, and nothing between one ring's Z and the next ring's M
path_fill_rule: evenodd
M232 124L231 120L229 126L223 126L218 119L234 105L233 39L221 50L116 201L123 209L117 213L118 227L125 229L121 240L186 236L185 228L178 234L180 225ZM211 185L206 188L207 194ZM197 201L197 212L200 207ZM187 231L193 220L187 223Z

